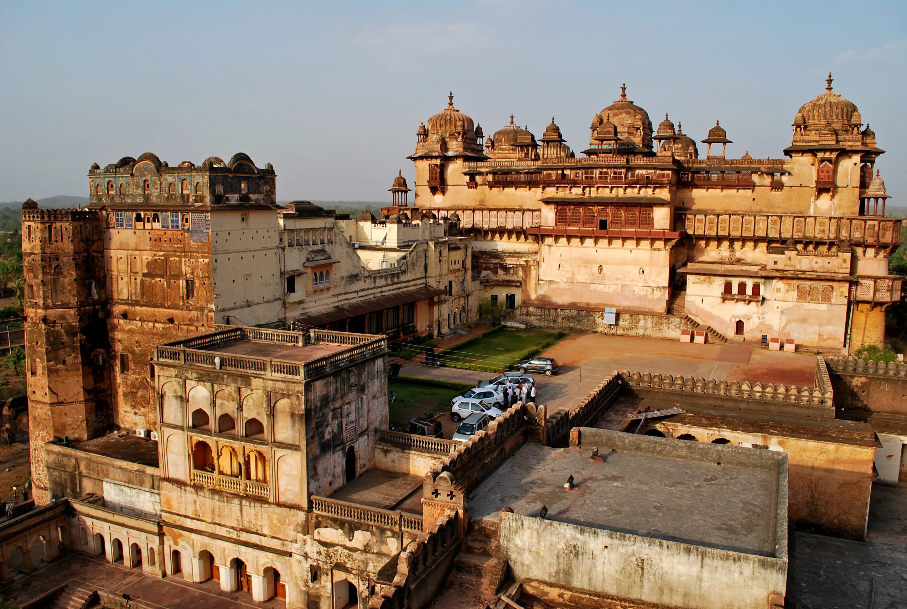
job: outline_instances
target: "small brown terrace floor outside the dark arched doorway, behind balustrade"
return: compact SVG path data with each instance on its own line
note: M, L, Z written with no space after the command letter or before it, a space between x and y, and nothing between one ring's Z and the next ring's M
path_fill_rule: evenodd
M369 469L337 489L331 499L422 514L422 476L409 476L385 469Z

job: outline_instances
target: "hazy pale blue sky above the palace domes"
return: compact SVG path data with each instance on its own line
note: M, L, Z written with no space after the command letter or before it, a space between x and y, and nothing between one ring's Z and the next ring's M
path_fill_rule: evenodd
M89 165L247 152L278 198L389 200L415 129L454 103L493 133L554 114L574 150L619 97L731 156L780 157L824 89L859 106L903 204L907 3L0 4L0 201L87 196ZM705 152L705 146L700 146Z

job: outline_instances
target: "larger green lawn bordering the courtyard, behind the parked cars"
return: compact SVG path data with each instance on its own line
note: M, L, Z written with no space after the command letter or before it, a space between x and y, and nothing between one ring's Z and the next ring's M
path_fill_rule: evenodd
M522 359L538 355L565 336L566 332L553 329L502 330L499 326L438 355L450 368L498 372L515 368Z

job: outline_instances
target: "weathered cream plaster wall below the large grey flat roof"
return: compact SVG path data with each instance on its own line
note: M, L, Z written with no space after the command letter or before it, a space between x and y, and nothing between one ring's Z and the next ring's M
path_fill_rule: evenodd
M786 558L746 555L501 515L501 552L518 580L613 594L671 607L765 609L785 594Z

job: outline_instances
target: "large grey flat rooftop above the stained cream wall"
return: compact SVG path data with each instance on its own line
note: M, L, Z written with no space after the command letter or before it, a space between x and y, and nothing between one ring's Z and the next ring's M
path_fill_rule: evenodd
M526 444L473 490L470 516L497 520L503 506L537 516L547 506L550 520L775 555L778 475L771 469L625 450L602 456ZM564 489L569 476L572 491Z

